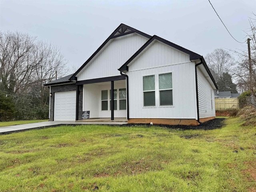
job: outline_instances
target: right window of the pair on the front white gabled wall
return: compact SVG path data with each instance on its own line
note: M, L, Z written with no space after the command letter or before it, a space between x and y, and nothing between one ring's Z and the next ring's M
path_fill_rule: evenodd
M160 106L172 105L172 73L159 74Z

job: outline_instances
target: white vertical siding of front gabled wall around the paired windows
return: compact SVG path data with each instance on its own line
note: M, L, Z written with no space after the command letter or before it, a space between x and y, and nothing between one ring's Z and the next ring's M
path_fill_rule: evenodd
M172 72L173 106L159 106L158 74ZM130 118L195 119L195 64L189 55L161 42L154 42L133 63L129 64ZM155 75L156 106L144 107L143 76Z

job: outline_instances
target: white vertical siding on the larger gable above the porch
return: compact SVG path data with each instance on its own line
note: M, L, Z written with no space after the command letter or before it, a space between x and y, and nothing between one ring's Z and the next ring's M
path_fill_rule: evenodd
M114 38L91 60L77 75L77 80L88 80L110 76L119 76L118 68L122 66L148 38L136 33Z

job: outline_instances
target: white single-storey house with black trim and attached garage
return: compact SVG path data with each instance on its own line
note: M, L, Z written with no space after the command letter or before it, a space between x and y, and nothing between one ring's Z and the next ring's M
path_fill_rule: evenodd
M74 73L45 84L50 120L127 118L198 125L215 118L218 87L202 56L120 24Z

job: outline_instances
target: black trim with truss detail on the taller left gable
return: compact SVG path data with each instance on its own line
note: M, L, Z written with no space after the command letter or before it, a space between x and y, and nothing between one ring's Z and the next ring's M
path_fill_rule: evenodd
M129 32L125 32L126 30L130 30ZM116 30L114 30L114 32L112 32L112 34L103 42L103 44L94 52L94 54L92 54L92 56L90 56L90 58L88 58L88 60L86 60L86 62L84 62L84 64L70 77L70 80L76 80L76 75L90 62L90 60L92 60L92 58L94 58L94 56L96 56L96 54L98 52L100 52L100 50L108 43L108 41L112 38L116 38L116 37L120 37L120 36L124 36L127 34L131 34L131 33L137 33L139 35L142 35L146 38L151 38L150 35L143 33L139 30L136 30L130 26L127 26L125 24L120 24ZM119 33L119 34L116 34ZM115 35L116 34L116 35Z

